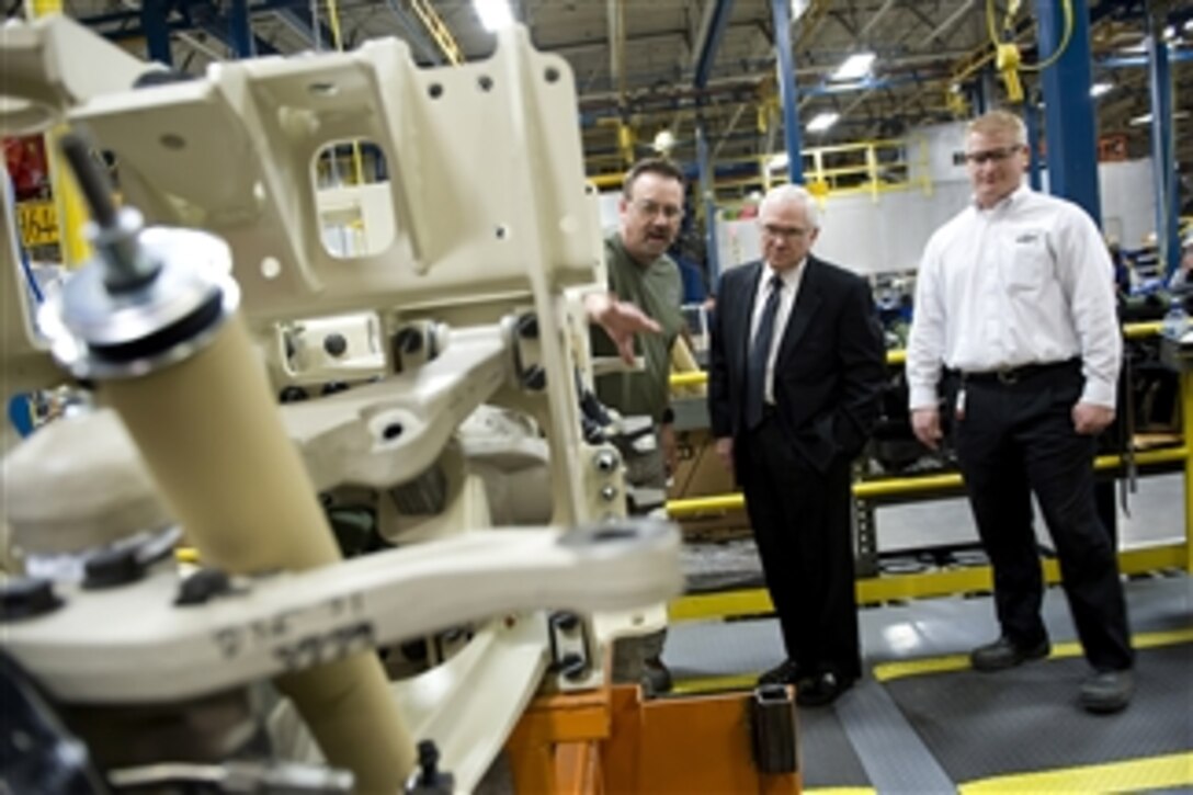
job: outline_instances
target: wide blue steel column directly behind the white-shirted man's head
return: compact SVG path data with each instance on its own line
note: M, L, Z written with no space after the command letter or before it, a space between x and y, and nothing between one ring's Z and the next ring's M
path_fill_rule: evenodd
M1089 95L1089 6L1073 2L1073 37L1061 60L1044 70L1044 131L1047 136L1049 192L1076 202L1101 226L1094 100ZM1056 51L1064 17L1056 0L1036 0L1040 57Z

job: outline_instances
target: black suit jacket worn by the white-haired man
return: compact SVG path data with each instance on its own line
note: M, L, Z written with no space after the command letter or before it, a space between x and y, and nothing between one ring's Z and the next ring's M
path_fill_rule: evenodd
M865 279L812 255L803 267L781 329L774 400L787 443L824 472L865 445L878 418L885 350ZM709 363L709 417L717 438L740 439L744 431L750 318L764 270L750 263L721 278Z

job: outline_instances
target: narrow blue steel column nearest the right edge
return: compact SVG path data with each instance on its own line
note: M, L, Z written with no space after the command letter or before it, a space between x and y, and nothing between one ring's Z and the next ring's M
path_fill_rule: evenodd
M1149 10L1150 11L1150 10ZM1156 245L1164 273L1180 265L1180 201L1173 155L1173 80L1163 20L1148 14L1148 78L1151 87L1151 168L1156 190Z

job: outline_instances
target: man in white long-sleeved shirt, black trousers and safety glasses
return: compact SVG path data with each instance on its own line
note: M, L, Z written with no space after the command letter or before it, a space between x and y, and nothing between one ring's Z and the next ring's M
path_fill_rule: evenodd
M1135 688L1118 559L1094 501L1095 437L1114 419L1121 359L1114 272L1081 208L1022 184L1027 155L1018 116L994 111L970 123L973 201L928 241L917 276L907 351L911 425L937 448L940 412L952 417L994 568L1001 637L973 649L973 667L999 671L1049 654L1034 492L1093 667L1081 703L1112 713Z

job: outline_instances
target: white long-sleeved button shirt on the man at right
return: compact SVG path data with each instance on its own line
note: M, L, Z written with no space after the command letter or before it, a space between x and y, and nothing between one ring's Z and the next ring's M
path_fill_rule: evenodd
M941 363L963 372L1081 357L1083 402L1114 407L1123 355L1114 266L1076 204L1022 186L932 235L907 346L910 407L937 405Z

